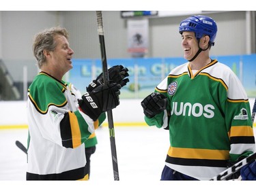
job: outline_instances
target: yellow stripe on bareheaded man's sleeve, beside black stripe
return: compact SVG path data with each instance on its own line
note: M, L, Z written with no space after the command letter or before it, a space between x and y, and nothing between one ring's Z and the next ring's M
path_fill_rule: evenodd
M78 147L81 145L81 132L79 128L79 122L76 118L76 115L72 112L68 112L70 116L70 128L71 128L71 133L72 133L72 144L73 148Z

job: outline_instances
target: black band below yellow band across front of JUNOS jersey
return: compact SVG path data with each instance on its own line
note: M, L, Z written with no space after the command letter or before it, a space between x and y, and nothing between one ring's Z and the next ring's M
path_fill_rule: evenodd
M227 167L227 160L175 158L167 155L165 162L182 166Z

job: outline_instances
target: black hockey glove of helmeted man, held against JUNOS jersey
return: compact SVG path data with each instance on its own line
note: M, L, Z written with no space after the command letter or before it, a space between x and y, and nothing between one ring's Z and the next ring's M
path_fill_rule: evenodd
M154 92L143 101L141 101L141 106L143 107L144 114L147 118L153 118L156 114L160 114L167 107L167 97L158 92Z

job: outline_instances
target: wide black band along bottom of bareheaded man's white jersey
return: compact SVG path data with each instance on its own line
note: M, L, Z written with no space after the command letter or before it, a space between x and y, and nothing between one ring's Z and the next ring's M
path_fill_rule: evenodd
M70 171L65 171L58 174L38 175L27 172L27 180L77 180L83 179L88 174L88 167L81 167Z

